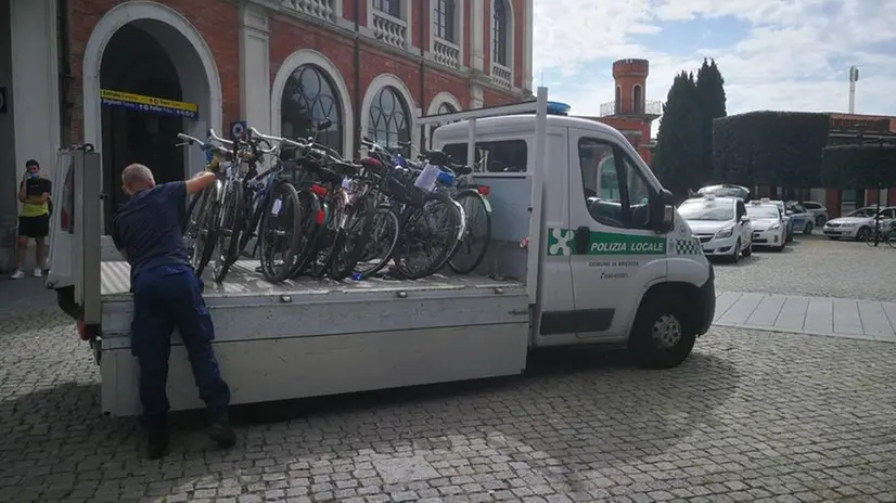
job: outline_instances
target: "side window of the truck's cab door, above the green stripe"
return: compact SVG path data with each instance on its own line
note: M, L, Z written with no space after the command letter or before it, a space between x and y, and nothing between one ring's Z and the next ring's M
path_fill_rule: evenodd
M628 156L592 138L578 142L581 185L588 212L604 225L650 228L650 185Z

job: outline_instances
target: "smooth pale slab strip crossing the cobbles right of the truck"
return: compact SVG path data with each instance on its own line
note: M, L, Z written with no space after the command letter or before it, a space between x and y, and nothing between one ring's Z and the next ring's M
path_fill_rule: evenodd
M713 323L896 343L896 302L719 292Z

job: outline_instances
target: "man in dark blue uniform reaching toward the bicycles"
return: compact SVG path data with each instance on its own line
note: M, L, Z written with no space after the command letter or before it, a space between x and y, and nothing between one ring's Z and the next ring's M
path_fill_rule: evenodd
M126 167L121 173L123 189L131 199L115 214L112 238L131 269L131 350L140 365L140 402L150 459L162 457L168 448L165 388L175 328L183 339L200 397L208 407L209 436L222 448L235 442L227 415L230 389L212 349L215 328L202 298L202 280L190 266L180 228L187 196L201 192L214 180L214 173L202 172L188 181L156 185L152 171L139 164Z

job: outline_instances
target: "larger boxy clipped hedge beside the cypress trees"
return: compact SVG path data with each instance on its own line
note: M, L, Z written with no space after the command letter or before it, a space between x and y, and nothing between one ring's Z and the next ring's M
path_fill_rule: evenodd
M713 121L714 177L789 189L819 186L828 114L750 112Z

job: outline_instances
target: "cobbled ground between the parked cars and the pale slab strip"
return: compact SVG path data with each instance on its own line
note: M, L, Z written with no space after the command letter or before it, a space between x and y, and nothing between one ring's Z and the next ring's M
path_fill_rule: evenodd
M797 235L782 253L715 263L719 291L896 301L896 249L886 245Z

